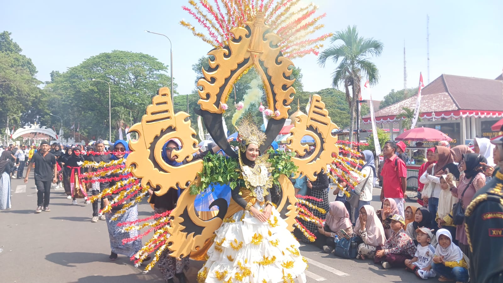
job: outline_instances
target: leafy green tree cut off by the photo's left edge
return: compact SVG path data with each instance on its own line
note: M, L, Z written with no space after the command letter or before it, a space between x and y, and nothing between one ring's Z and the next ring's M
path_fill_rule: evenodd
M41 82L35 78L37 68L30 58L21 54L21 47L11 39L8 31L0 33L0 124L6 128L7 118L21 116L9 120L10 128L32 122L32 104L39 104L41 90L37 87ZM35 110L35 109L33 109ZM33 111L35 114L35 111ZM2 130L4 133L4 130Z

